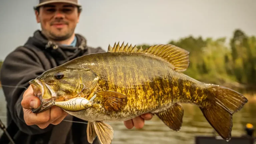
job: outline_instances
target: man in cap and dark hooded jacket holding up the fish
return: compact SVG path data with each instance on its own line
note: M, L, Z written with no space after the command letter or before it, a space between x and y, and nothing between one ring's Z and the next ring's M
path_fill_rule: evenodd
M59 66L85 54L104 52L101 48L86 45L83 36L75 34L79 22L81 5L77 0L40 0L35 7L36 21L42 31L35 31L24 46L16 48L5 59L1 69L3 85L24 86L22 88L3 87L7 101L8 126L17 126L13 138L17 143L88 143L86 124L71 123L83 121L67 115L54 106L39 114L31 112L40 100L33 95L28 81L44 71ZM152 118L145 114L125 121L128 129L142 128L144 119ZM14 130L14 128L13 128ZM94 143L98 143L97 139Z

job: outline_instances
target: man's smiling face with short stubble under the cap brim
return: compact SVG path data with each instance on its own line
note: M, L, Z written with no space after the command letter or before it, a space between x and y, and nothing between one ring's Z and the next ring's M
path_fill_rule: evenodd
M36 20L41 23L42 32L46 37L62 41L70 38L79 22L77 7L67 3L52 3L41 6L36 11Z

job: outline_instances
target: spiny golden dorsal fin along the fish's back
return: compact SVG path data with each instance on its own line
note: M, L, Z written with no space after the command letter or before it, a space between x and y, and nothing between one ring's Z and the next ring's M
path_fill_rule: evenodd
M128 45L128 43L124 45L124 42L120 46L118 42L118 44L115 43L113 47L109 45L108 52L150 54L168 61L172 64L174 70L180 72L185 71L189 66L189 51L172 44L152 45L146 49L143 49L142 47L137 48L136 45Z

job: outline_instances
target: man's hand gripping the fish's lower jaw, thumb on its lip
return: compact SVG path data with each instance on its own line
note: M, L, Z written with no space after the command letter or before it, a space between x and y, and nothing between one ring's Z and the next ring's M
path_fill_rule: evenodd
M57 106L52 106L50 109L38 114L33 113L31 109L38 108L40 103L40 99L33 94L33 89L30 85L24 92L21 101L24 120L27 125L37 125L41 129L44 129L49 124L59 124L67 116L67 113Z

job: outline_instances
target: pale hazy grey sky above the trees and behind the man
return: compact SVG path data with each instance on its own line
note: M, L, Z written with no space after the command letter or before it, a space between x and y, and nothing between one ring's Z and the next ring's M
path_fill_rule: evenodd
M34 31L38 0L1 0L0 60L23 45ZM83 11L75 32L92 47L166 44L193 35L230 38L239 28L256 35L256 0L80 0Z

